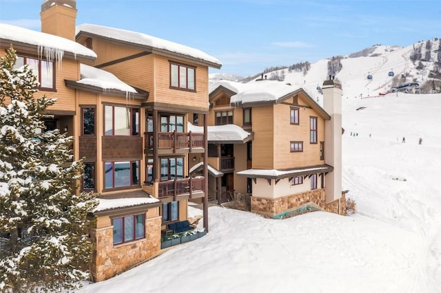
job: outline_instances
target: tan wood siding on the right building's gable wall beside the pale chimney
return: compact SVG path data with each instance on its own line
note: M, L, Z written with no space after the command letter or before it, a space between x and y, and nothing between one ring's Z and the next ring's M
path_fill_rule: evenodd
M298 97L298 104L306 105L302 96ZM318 117L318 142L325 140L325 120L313 109L299 107L300 124L291 124L290 109L289 105L284 104L274 106L274 149L276 150L274 169L291 169L322 164L320 143L311 144L309 142L309 117ZM303 151L291 153L291 141L303 142Z

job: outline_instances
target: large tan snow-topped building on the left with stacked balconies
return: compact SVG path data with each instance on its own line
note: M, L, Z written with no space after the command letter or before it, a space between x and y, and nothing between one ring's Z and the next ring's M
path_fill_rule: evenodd
M76 12L74 0L43 1L41 32L0 25L0 54L13 45L17 66L38 72L38 94L58 98L46 127L72 135L74 160L85 158L81 191L100 197L91 271L101 281L154 257L189 199L202 199L208 228L207 180L188 163L207 156L207 124L192 133L187 117L209 113L208 68L221 63L147 34L76 27Z

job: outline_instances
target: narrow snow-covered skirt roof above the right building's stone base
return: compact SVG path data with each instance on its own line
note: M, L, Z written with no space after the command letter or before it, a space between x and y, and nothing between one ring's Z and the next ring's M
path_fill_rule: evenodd
M311 175L316 173L327 173L334 170L332 166L327 164L320 166L308 166L290 170L276 169L248 169L237 172L237 175L249 178L265 178L265 179L282 179L287 177Z

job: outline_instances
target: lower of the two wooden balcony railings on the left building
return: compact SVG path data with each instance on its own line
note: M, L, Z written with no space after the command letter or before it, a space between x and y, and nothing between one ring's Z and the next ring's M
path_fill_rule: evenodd
M201 193L204 190L204 177L189 177L185 179L168 180L159 182L158 197L177 197Z

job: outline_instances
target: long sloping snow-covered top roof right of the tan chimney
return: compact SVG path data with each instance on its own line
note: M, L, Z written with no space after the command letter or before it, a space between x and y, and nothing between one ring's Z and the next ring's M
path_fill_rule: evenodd
M145 49L152 50L152 52L158 54L175 54L176 56L194 58L195 61L207 63L214 68L220 68L222 66L222 63L220 63L217 58L214 58L201 50L174 43L172 41L159 39L155 36L150 36L141 32L132 32L130 30L121 30L119 28L84 23L76 26L76 37L78 38L81 34L101 36L105 39L130 43L132 45L137 45L138 47L141 45L145 47Z

